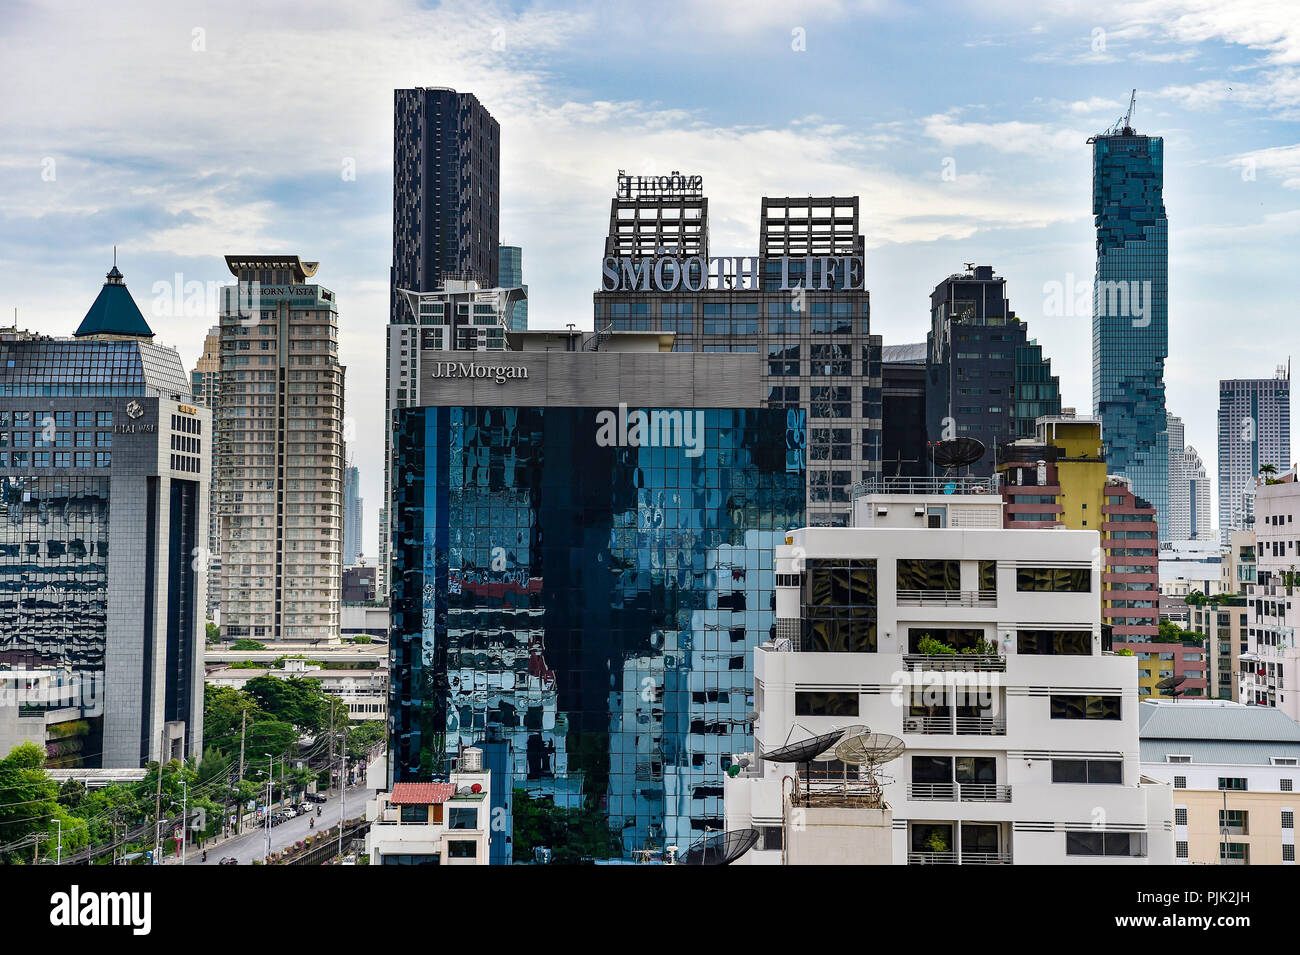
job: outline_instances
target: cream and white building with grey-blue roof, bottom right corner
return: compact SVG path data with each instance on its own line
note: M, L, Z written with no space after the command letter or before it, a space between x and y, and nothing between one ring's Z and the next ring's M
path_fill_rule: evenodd
M1230 702L1143 703L1141 772L1174 787L1174 861L1294 865L1300 726Z

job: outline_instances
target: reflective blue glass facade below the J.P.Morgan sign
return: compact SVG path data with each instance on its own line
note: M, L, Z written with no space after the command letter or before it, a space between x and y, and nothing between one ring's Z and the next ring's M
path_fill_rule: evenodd
M394 414L393 777L486 743L516 861L722 828L774 547L805 521L802 411L670 412L701 416L690 447L604 446L601 413Z

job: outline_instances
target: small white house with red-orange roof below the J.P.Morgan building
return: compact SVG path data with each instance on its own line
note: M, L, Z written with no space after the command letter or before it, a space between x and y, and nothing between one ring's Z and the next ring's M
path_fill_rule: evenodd
M365 804L370 865L488 865L491 859L491 774L482 750L462 752L447 782L399 782Z

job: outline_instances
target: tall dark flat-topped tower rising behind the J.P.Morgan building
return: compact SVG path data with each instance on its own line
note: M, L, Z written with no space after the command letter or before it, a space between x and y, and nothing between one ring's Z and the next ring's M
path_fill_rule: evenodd
M500 227L500 125L473 94L439 87L393 91L393 269L389 325L413 325L399 290L494 288ZM400 337L399 337L400 338ZM384 418L384 500L380 502L380 595L389 572L389 451L394 407L394 337L389 335ZM398 344L398 348L402 346ZM448 347L452 347L448 343ZM407 350L411 351L410 344ZM400 368L400 365L398 365ZM404 404L404 401L400 401Z

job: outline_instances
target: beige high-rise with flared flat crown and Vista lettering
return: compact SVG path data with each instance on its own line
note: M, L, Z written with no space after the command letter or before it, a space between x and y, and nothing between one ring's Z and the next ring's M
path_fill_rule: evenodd
M226 256L221 309L222 637L338 639L343 376L317 262Z

